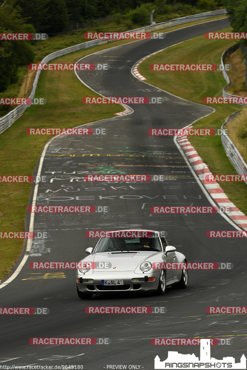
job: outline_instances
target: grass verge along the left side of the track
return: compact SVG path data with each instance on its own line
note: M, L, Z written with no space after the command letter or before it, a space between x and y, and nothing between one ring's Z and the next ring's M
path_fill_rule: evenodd
M213 19L220 19L222 17L224 16L214 17ZM177 28L188 27L192 24L202 23L203 21L194 21L177 25L165 28L163 31L166 32ZM159 31L161 32L162 30L156 32ZM40 43L37 44L35 61L40 61L45 55L53 51L83 41L87 40L83 39L81 33L66 34L66 36L56 36L47 41L40 41ZM84 55L128 42L132 41L112 41L111 43L101 46L65 55L56 60L54 59L53 62L71 63L71 60L76 61ZM13 87L11 88L13 89ZM87 122L112 117L114 113L123 110L120 105L95 105L92 109L90 105L83 105L81 103L81 97L94 95L95 94L92 93L91 90L87 89L75 78L73 72L42 71L35 96L45 97L47 104L44 106L31 106L19 120L14 122L9 129L0 135L1 174L31 175L33 173L41 149L51 136L28 136L26 135L27 128L76 127ZM9 96L13 96L13 94ZM26 208L29 202L30 192L31 184L1 183L1 232L24 231ZM9 275L22 249L22 240L5 239L1 241L0 280L6 275Z

